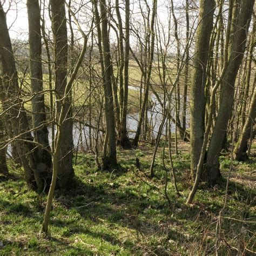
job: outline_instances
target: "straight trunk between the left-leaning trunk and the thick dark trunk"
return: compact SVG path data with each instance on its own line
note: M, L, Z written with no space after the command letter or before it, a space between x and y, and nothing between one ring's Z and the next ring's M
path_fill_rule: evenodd
M38 142L37 162L39 165L45 165L44 181L49 183L51 173L51 154L45 150L51 150L48 140L48 129L46 126L46 113L43 94L43 72L42 72L42 43L40 26L40 8L38 0L28 0L28 19L29 19L29 46L30 46L30 72L31 72L31 92L33 129L35 129L34 139ZM42 187L43 188L43 187Z

